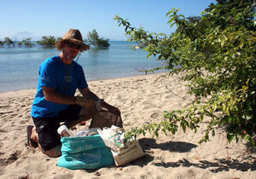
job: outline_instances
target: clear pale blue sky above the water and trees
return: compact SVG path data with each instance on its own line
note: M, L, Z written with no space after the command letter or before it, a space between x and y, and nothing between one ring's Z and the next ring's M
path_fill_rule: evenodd
M0 39L19 32L31 37L62 37L69 28L77 28L86 38L96 29L102 38L126 40L124 27L114 16L128 19L132 26L148 32L170 34L166 13L180 8L185 16L200 15L214 0L0 0ZM3 15L4 14L4 15Z

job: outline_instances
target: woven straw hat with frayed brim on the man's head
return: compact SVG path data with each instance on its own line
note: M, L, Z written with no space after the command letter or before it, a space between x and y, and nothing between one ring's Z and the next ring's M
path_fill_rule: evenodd
M68 32L64 34L63 38L61 38L61 40L58 43L56 43L55 46L57 49L61 50L63 47L63 43L70 41L81 44L81 52L90 49L90 46L86 45L83 42L82 34L79 32L78 29L69 29Z

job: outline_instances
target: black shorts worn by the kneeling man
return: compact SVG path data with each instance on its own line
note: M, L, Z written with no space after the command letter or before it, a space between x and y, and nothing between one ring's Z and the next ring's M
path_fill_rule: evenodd
M81 108L82 107L79 105L69 105L67 109L61 111L58 116L33 118L38 133L38 143L44 151L61 145L61 136L57 132L60 123L78 120Z

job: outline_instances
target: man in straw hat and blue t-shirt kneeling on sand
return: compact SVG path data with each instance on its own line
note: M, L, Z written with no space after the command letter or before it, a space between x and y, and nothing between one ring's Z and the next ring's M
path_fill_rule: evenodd
M102 128L111 123L122 126L119 109L88 88L83 67L77 61L80 53L90 46L83 42L79 30L69 29L55 46L61 53L44 61L39 68L37 95L32 104L35 126L27 127L27 144L39 147L49 157L61 155L61 136L57 133L61 122L68 129L90 118L90 127ZM76 56L78 59L73 61ZM74 96L76 90L83 96ZM102 121L101 107L119 118Z

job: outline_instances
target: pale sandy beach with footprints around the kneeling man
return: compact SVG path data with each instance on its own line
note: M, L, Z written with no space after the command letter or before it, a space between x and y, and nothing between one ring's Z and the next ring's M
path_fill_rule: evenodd
M183 107L191 96L177 76L161 78L150 74L132 78L90 81L90 90L109 104L119 107L124 129L158 122L164 111ZM166 88L168 87L168 89ZM172 90L172 92L170 92ZM207 143L198 143L206 124L194 133L179 130L175 136L138 136L146 153L131 164L99 170L68 170L57 160L26 145L26 126L32 124L31 107L36 90L0 94L0 178L256 178L256 150L246 141L226 139L224 130ZM77 126L76 130L88 128Z

